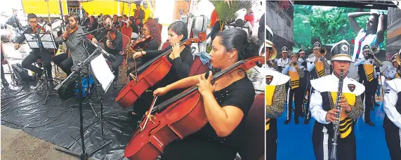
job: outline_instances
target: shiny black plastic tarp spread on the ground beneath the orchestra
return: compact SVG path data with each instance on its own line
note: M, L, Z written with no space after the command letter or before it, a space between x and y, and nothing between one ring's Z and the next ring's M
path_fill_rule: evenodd
M39 87L38 87L39 86ZM78 102L60 100L57 94L51 95L44 105L45 96L35 91L46 91L46 86L37 83L25 84L19 88L1 89L1 124L11 128L18 128L29 135L41 138L61 147L70 145L70 150L81 153L79 138L79 108L71 107ZM101 88L98 88L100 94ZM83 106L84 127L98 121L84 131L86 152L91 153L107 142L112 142L92 156L93 159L124 159L124 149L129 142L133 127L128 118L128 110L123 110L114 102L119 90L110 88L103 95L103 115L108 121L103 121L104 136L101 136L100 101L95 101L93 93L92 106ZM86 100L85 102L88 102ZM74 140L76 139L76 140ZM103 140L103 142L102 142Z

